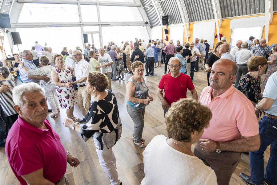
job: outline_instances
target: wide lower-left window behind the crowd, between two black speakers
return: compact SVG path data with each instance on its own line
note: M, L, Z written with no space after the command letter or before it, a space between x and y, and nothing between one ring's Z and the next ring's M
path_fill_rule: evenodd
M35 41L42 46L46 43L47 47L52 47L53 53L61 53L63 47L75 50L79 46L83 50L81 27L17 28L16 31L22 40L22 45L18 45L20 51L31 50ZM16 46L14 52L18 52Z

